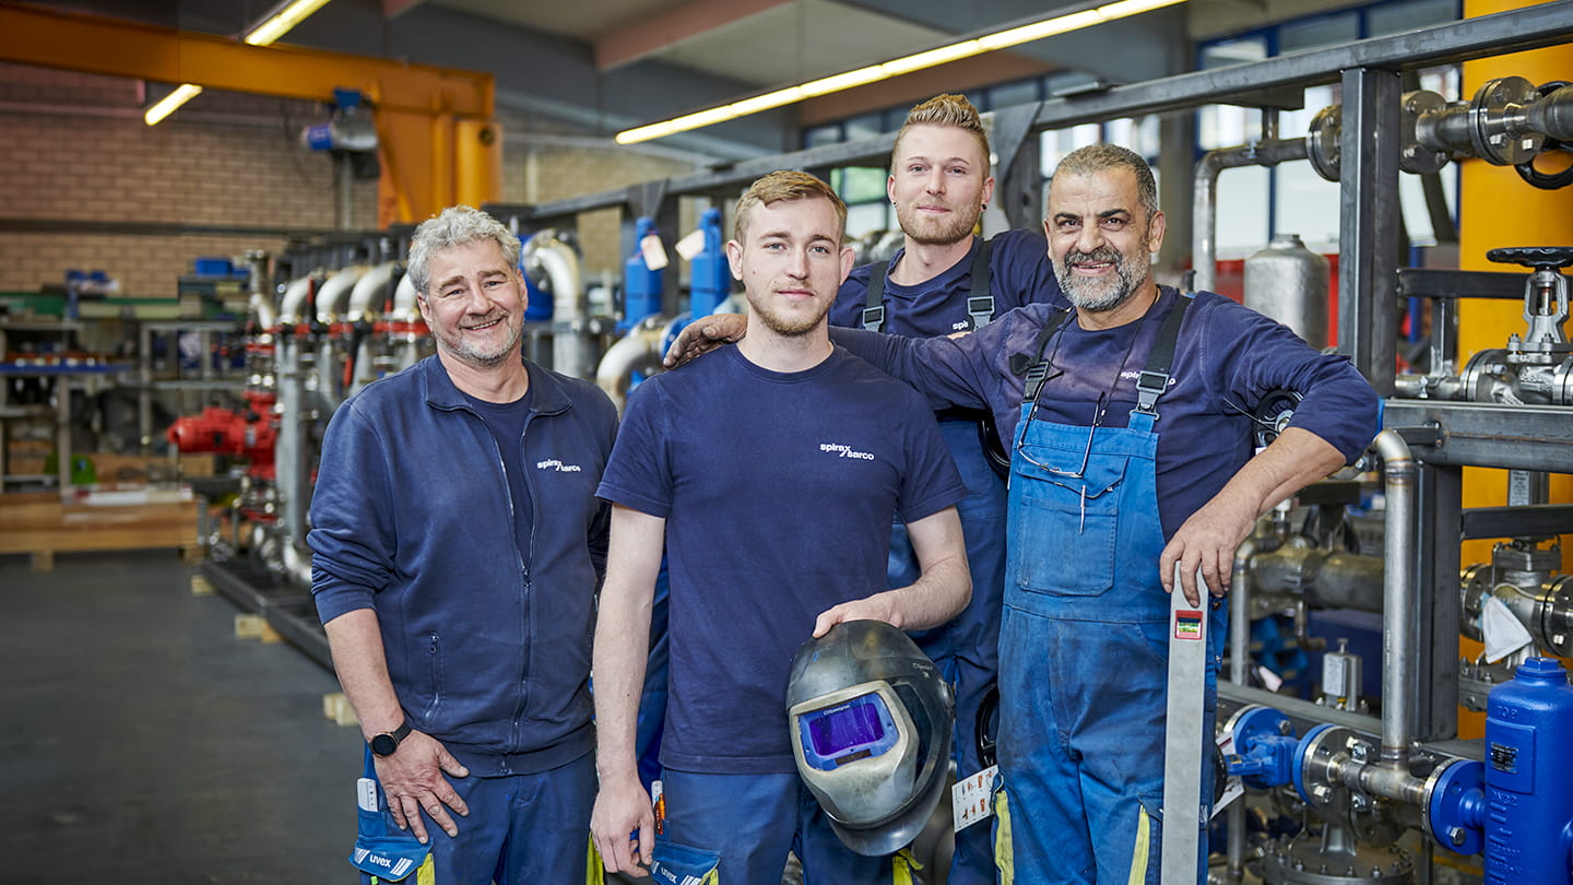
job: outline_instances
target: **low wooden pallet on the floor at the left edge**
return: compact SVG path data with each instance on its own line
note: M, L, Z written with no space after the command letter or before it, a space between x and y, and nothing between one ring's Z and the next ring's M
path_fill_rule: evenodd
M197 501L63 504L52 491L0 494L0 553L28 553L49 572L57 553L176 548L200 554Z

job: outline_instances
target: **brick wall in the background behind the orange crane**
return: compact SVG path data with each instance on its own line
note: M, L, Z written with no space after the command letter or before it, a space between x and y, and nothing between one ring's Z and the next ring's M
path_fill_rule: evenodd
M332 161L300 146L326 120L313 102L208 91L157 126L142 121L142 83L0 63L0 291L55 285L69 268L104 269L124 294L173 296L204 255L280 250L250 233L39 233L57 227L165 224L223 228L337 225ZM503 194L540 203L667 178L692 162L618 148L540 120L499 115ZM351 224L376 225L376 183L352 184ZM684 224L689 224L684 213ZM617 211L579 219L585 276L618 274ZM681 235L683 231L676 231Z

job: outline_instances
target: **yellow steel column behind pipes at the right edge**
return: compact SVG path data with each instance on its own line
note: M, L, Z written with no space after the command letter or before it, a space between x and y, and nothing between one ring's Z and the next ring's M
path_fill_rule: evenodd
M1529 6L1518 0L1464 0L1464 17L1504 13ZM1497 55L1479 61L1466 61L1463 79L1464 99L1474 98L1482 83L1496 77L1518 76L1540 85L1548 80L1568 79L1573 71L1573 46L1537 49L1513 55ZM1543 157L1537 168L1554 172L1564 157ZM1505 246L1573 246L1573 187L1542 191L1526 184L1512 167L1497 167L1485 161L1464 161L1460 187L1458 263L1466 271L1504 271L1507 265L1485 260L1490 249ZM1507 345L1507 337L1524 331L1524 309L1509 301L1463 301L1458 307L1458 364L1469 356ZM1464 507L1491 507L1507 504L1507 471L1464 468ZM1551 501L1573 501L1573 477L1551 477ZM1491 540L1464 542L1463 564L1488 562ZM1573 561L1573 545L1562 548L1562 568ZM1463 652L1474 657L1480 646L1464 639ZM1483 717L1460 718L1461 737L1479 737Z

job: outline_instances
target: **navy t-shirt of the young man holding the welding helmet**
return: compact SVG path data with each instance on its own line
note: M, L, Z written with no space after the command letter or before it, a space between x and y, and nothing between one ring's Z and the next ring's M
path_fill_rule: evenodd
M629 397L601 498L665 518L661 762L794 772L786 677L815 617L886 589L890 513L966 494L922 397L842 348L779 373L736 346Z

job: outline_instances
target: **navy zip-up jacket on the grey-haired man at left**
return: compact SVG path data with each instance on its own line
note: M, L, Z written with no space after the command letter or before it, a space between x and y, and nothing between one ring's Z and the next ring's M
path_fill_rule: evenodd
M322 624L376 609L409 723L480 776L543 772L595 745L590 636L609 528L595 490L617 408L588 381L525 367L529 556L497 442L437 357L333 413L307 537Z

